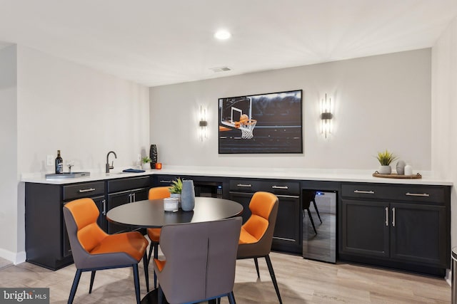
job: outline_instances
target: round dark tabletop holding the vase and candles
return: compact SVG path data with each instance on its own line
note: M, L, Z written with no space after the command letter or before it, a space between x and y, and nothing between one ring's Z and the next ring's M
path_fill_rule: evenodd
M240 215L241 212L243 206L236 201L197 196L193 211L164 211L164 199L151 199L114 207L108 211L106 219L116 224L160 228L168 224L228 219Z

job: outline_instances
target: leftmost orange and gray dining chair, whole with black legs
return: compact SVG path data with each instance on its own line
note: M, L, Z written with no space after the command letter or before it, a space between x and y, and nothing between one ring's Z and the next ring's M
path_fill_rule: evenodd
M99 209L92 199L76 199L64 206L66 231L69 235L76 274L68 303L73 303L83 271L91 271L89 293L92 293L95 272L110 268L132 267L136 303L140 303L138 263L143 258L146 289L149 291L148 240L138 231L106 234L97 224Z

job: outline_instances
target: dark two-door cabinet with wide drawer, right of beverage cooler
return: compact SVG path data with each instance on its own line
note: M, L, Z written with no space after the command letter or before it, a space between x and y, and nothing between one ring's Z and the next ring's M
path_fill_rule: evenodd
M445 275L449 187L352 183L341 192L341 259Z

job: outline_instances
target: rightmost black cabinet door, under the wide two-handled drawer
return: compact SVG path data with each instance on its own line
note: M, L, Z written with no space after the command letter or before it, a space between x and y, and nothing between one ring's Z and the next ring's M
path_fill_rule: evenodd
M391 258L446 267L446 207L391 204Z

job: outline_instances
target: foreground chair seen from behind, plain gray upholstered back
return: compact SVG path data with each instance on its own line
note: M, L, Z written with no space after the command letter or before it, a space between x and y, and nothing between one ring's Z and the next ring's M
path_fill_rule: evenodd
M154 258L163 295L171 304L198 303L229 297L235 303L236 251L241 217L162 227L160 246L166 258Z

